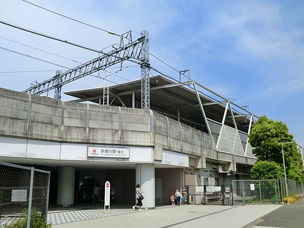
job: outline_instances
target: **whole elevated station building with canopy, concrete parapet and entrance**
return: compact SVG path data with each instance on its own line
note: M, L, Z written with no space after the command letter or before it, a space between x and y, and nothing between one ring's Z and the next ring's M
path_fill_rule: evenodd
M188 80L149 78L150 109L140 80L65 92L71 101L0 89L0 160L51 171L49 204L72 205L81 186L110 181L116 202L170 204L186 185L249 179L256 162L247 107Z

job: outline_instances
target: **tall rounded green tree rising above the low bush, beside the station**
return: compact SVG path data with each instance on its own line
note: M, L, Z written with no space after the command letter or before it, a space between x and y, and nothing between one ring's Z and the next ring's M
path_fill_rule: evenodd
M248 142L253 147L252 153L258 161L276 162L283 166L282 144L294 142L288 127L282 121L274 121L262 116L253 124ZM303 161L296 143L284 144L284 158L289 179L303 182Z

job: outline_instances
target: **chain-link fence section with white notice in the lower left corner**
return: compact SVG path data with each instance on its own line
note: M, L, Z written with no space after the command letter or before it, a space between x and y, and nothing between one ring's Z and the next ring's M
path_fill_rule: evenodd
M0 162L0 173L0 227L30 215L32 208L47 218L50 172Z

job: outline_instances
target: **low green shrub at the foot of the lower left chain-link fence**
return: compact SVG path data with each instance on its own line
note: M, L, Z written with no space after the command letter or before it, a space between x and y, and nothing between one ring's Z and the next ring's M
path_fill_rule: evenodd
M22 211L22 218L17 219L9 225L5 225L4 228L26 228L27 225L27 210ZM46 217L38 212L35 208L32 208L30 214L30 228L51 228L52 224L46 221Z

